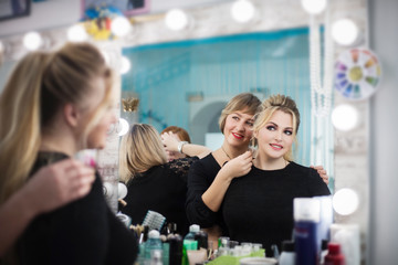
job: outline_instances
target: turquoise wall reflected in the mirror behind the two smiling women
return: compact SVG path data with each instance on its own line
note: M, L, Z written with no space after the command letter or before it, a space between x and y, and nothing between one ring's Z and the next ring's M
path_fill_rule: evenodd
M234 95L252 92L264 99L285 94L295 99L303 120L296 161L311 163L306 28L126 47L123 54L134 65L123 76L123 93L137 95L138 123L159 131L170 125L186 128L192 142L216 149L222 141L209 141L221 134L218 118Z

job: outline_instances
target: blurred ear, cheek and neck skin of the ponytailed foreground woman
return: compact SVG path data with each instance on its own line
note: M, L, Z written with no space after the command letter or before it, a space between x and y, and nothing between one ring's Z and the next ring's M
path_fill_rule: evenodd
M90 113L97 112L100 104L103 102L105 96L105 82L103 78L97 78L95 81L94 86L95 93L92 93L87 100L87 105L92 109ZM101 106L104 107L104 106ZM91 149L103 149L105 148L107 131L112 124L115 124L116 109L112 102L108 103L108 106L105 106L105 110L103 110L102 116L98 118L96 125L91 129L87 137L87 148Z

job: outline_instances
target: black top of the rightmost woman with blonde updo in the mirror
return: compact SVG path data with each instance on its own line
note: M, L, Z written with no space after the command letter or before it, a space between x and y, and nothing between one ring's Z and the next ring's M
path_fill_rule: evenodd
M271 245L281 250L292 240L293 199L331 194L314 169L290 162L284 169L255 167L232 180L222 204L222 214L231 240L262 243L270 256Z

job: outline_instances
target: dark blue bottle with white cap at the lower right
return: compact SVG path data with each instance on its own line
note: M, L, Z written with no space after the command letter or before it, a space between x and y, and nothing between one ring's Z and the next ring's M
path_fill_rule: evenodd
M320 200L294 199L294 242L296 265L318 264Z

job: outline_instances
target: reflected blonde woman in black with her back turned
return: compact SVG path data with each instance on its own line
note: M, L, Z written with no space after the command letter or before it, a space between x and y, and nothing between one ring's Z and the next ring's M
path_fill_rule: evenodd
M192 157L168 162L159 132L147 124L134 124L123 137L119 150L121 180L128 190L124 199L127 205L121 211L134 224L143 223L148 210L158 212L185 235L189 226L185 211L187 173L209 150L198 146Z

